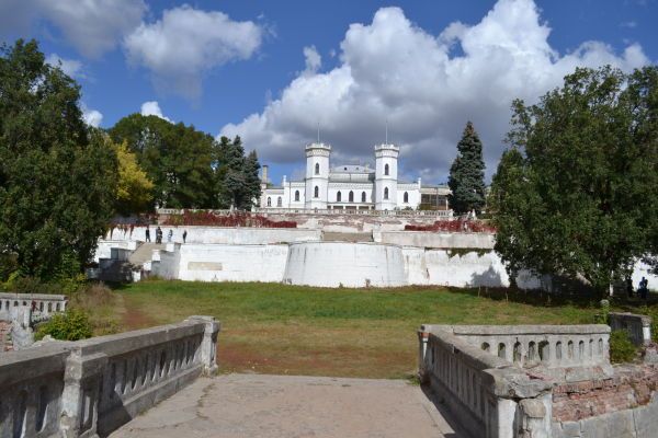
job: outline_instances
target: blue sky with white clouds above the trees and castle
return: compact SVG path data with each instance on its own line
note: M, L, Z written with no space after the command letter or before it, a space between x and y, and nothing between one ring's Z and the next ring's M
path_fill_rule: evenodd
M657 20L655 0L0 0L0 37L61 59L90 123L144 106L239 134L274 182L300 176L318 124L333 164L363 163L386 120L407 178L445 181L468 119L490 175L512 99L576 66L656 64Z

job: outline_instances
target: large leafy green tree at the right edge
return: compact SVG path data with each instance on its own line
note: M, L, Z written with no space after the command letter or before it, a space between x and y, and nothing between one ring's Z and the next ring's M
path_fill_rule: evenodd
M638 257L658 253L658 69L577 69L512 111L489 198L496 251L512 275L611 291Z

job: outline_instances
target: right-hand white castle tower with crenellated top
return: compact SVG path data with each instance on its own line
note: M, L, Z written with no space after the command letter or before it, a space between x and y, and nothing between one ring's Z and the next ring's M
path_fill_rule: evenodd
M400 148L395 145L375 146L375 209L397 207L397 159Z

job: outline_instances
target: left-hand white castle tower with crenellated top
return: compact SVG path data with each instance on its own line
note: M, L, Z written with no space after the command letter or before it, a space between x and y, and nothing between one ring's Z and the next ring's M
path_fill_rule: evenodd
M317 142L306 147L305 208L327 208L330 154L329 145Z

